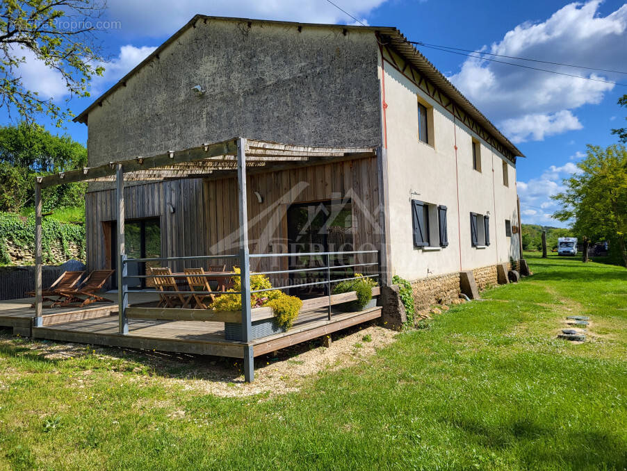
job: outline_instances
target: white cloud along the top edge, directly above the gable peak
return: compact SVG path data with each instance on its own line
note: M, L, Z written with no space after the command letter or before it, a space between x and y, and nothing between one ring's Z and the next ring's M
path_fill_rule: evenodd
M339 6L368 24L364 16L385 0L343 0ZM108 0L108 19L121 22L126 37L170 35L197 13L307 23L354 24L355 20L324 0Z

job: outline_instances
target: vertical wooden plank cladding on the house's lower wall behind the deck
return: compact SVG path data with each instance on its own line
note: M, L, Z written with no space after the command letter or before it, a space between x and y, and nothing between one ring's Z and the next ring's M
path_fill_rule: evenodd
M235 178L133 185L124 189L124 199L127 219L160 218L162 256L237 254L239 223ZM355 250L380 249L377 159L366 156L250 174L247 179L250 252L288 251L288 206L329 199L350 199ZM90 270L111 266L111 235L107 228L114 220L115 191L86 195ZM371 261L375 260L368 259ZM239 265L233 260L224 263L229 269ZM251 263L252 270L283 270L287 258L254 259ZM173 271L183 269L182 263L168 266Z

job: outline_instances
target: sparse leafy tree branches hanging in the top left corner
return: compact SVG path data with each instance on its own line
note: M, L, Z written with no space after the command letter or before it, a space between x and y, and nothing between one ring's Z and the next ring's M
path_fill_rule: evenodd
M27 61L38 61L59 74L70 98L88 97L88 84L101 75L102 58L92 33L101 15L100 0L4 0L0 6L0 108L17 110L22 119L46 113L60 126L71 116L52 99L28 90L19 74ZM104 0L102 0L104 1Z

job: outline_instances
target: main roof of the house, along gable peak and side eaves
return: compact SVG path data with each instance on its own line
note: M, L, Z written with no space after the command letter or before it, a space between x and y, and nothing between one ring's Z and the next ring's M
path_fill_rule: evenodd
M120 78L120 81L117 81L115 85L109 88L106 92L100 95L95 101L88 106L82 113L74 118L74 122L81 122L87 124L87 118L90 111L102 104L102 101L106 99L109 95L113 94L115 90L120 87L126 86L127 80L139 72L145 65L148 65L154 58L158 58L159 54L172 42L176 41L183 33L185 33L189 28L195 28L195 25L199 21L225 21L225 22L248 22L250 24L277 24L284 26L304 26L307 28L334 28L341 29L345 31L372 31L373 33L378 33L380 35L386 35L391 40L391 44L393 47L401 53L407 60L409 60L419 72L425 74L427 78L430 79L437 85L443 92L450 96L450 99L455 101L455 103L462 108L466 113L468 113L475 121L485 127L489 133L494 135L494 137L507 149L512 151L514 156L524 157L523 153L510 142L509 139L501 133L498 128L490 122L485 115L483 115L478 108L476 108L469 99L464 97L464 94L457 90L453 83L448 81L448 78L444 76L430 61L414 47L414 44L409 42L405 35L403 35L398 28L392 26L352 26L352 25L343 25L343 24L320 24L320 23L298 23L298 22L282 22L277 20L270 19L252 19L252 18L236 18L236 17L215 17L208 15L195 15L192 19L190 19L185 26L179 29L174 35L172 35L168 40L165 40L161 46L155 49L147 58L142 60L135 68L131 70L128 74Z

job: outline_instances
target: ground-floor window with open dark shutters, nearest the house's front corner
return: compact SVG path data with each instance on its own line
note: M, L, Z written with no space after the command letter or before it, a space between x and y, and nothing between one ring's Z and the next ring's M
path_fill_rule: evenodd
M412 200L414 247L447 247L446 206Z

